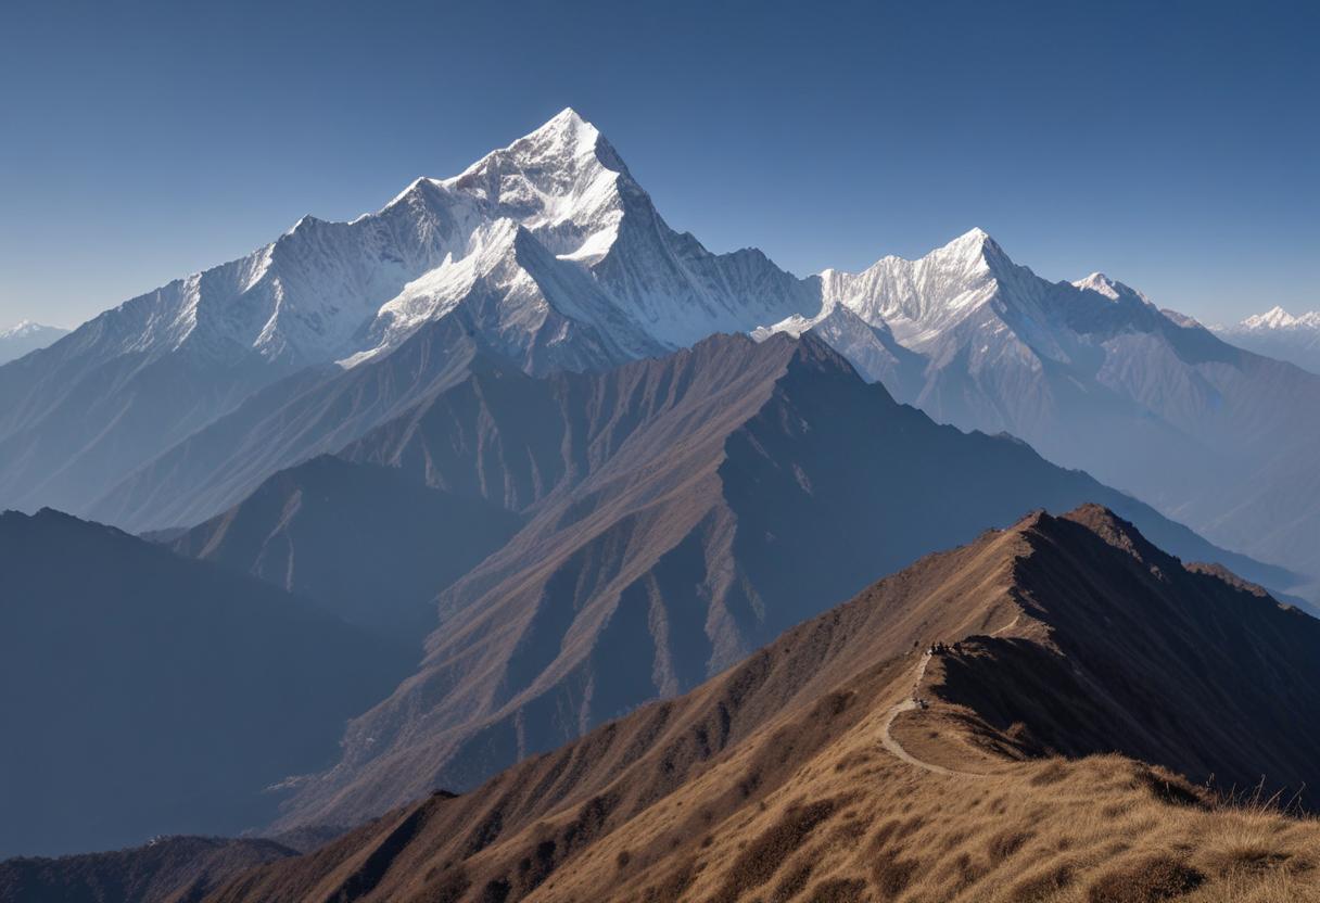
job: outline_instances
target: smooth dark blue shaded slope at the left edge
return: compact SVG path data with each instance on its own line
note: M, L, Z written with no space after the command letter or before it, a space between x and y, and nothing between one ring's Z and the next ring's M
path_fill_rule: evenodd
M405 650L53 511L0 515L5 854L236 833L323 767Z

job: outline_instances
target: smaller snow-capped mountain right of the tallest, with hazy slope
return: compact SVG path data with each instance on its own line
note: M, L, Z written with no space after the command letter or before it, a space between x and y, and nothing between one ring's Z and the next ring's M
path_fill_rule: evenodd
M902 401L1008 432L1210 540L1313 580L1320 378L1094 273L1049 283L973 230L920 260L825 271L814 329ZM915 359L913 359L915 356Z

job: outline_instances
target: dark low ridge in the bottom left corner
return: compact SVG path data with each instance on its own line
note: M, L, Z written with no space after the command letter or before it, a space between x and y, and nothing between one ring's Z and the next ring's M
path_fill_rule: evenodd
M268 840L165 837L114 853L0 862L0 903L186 903L264 862L297 855Z

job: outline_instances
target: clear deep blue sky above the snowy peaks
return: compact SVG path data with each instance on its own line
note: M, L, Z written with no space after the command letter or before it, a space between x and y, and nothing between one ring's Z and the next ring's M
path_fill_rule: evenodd
M0 323L374 210L565 106L676 228L797 273L981 226L1206 319L1309 309L1317 8L7 0Z

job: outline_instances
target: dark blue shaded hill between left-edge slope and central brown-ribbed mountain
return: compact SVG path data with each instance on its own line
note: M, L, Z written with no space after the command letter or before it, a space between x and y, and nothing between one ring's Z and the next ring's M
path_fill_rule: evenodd
M436 626L436 594L520 524L504 508L396 470L319 457L271 477L242 504L168 545L420 644Z

